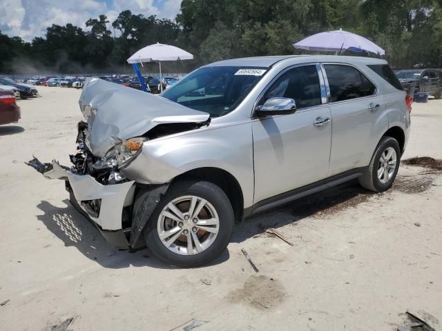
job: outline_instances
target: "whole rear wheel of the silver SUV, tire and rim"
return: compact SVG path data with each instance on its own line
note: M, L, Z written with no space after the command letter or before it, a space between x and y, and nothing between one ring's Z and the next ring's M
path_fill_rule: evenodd
M389 157L389 152L392 152ZM385 156L389 157L385 163ZM381 159L382 157L382 159ZM394 161L394 168L392 168ZM376 150L374 151L372 160L365 169L363 175L359 177L359 183L363 188L374 192L383 192L392 187L396 174L399 170L401 162L401 148L396 139L388 136L382 137L379 141ZM387 173L385 173L385 164L387 165ZM384 170L381 177L378 176L378 171Z

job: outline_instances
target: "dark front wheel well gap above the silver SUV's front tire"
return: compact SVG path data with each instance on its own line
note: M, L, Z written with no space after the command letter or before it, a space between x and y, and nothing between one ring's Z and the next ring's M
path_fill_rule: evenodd
M242 221L244 214L244 195L238 180L226 170L214 167L195 168L179 174L171 184L186 179L209 181L218 185L229 197L236 223Z

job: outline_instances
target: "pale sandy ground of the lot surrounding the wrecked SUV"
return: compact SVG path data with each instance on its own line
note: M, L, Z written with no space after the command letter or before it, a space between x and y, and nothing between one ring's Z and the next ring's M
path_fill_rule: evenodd
M80 91L39 92L18 101L17 125L0 127L0 303L10 299L0 330L51 330L70 317L68 330L396 330L406 310L442 330L441 175L302 199L238 225L212 265L169 268L148 250L108 245L63 182L23 163L68 164L75 152ZM441 123L442 101L414 104L404 158L442 159Z

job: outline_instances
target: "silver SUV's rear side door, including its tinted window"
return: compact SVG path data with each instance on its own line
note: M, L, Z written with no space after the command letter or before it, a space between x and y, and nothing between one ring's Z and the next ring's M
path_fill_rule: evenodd
M333 119L327 177L368 165L379 131L387 130L385 101L374 83L354 66L324 63ZM383 131L383 132L385 132Z

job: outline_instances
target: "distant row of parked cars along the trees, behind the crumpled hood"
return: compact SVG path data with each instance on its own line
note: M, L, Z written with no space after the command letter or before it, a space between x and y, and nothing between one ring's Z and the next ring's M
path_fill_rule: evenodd
M84 81L90 76L84 77L33 77L33 78L22 78L19 81L21 83L32 84L33 86L57 86L62 88L83 88ZM133 76L101 76L100 79L105 81L111 81L122 86L127 86L129 88L135 88L137 90L142 90L140 81L137 77ZM147 76L144 77L144 83L148 91L151 93L160 93L161 90L166 90L170 88L179 80L178 77L159 77Z

